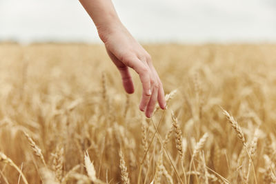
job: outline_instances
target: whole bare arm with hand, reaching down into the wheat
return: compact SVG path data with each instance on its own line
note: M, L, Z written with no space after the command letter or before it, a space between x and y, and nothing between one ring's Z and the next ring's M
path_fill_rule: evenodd
M124 89L128 94L134 92L129 68L139 74L143 87L139 109L150 118L159 103L166 108L164 89L152 65L150 54L132 37L121 23L111 0L79 0L97 27L101 41L106 45L110 59L117 66Z

